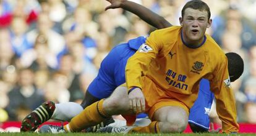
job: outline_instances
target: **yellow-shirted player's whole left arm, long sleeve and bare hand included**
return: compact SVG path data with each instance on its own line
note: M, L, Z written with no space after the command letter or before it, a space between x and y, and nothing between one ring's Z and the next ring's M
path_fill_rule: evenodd
M134 113L145 111L145 97L142 93L142 76L145 76L152 60L156 58L162 44L157 30L150 34L145 44L129 58L126 64L126 84L130 108Z

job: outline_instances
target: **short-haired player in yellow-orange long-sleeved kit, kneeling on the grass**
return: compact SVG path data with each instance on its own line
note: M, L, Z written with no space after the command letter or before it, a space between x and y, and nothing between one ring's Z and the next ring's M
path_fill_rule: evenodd
M110 131L182 132L198 95L198 83L205 78L215 94L223 132L237 132L228 60L211 36L205 34L211 26L209 7L198 0L187 2L180 23L181 26L151 33L127 62L126 84L117 87L109 98L85 108L64 130L77 132L113 114L123 114L132 124L135 114L145 112L152 121L149 126L116 127Z

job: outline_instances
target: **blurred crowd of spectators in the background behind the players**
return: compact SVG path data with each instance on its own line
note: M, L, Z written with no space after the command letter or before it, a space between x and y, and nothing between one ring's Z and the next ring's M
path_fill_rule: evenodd
M133 0L179 25L186 0ZM256 1L205 1L207 33L245 62L233 82L239 122L256 123ZM22 121L46 100L80 103L115 45L155 30L105 0L0 0L0 122ZM214 107L214 106L213 106ZM218 122L216 113L211 119Z

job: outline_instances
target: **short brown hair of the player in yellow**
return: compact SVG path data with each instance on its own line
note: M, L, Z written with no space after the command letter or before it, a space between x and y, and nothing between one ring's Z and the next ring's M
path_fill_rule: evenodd
M208 5L200 0L192 0L186 3L186 5L183 7L183 9L181 10L181 17L184 17L184 12L187 8L191 8L191 9L196 9L196 10L206 10L208 13L208 20L211 17L211 12L210 12L210 8L208 7Z

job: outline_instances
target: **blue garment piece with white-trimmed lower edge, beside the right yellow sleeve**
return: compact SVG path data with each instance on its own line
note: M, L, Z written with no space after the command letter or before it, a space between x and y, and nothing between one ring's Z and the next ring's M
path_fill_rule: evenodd
M210 91L210 82L207 79L202 79L200 81L197 100L192 108L190 108L189 123L195 124L203 129L209 129L209 114L213 98L214 95Z

